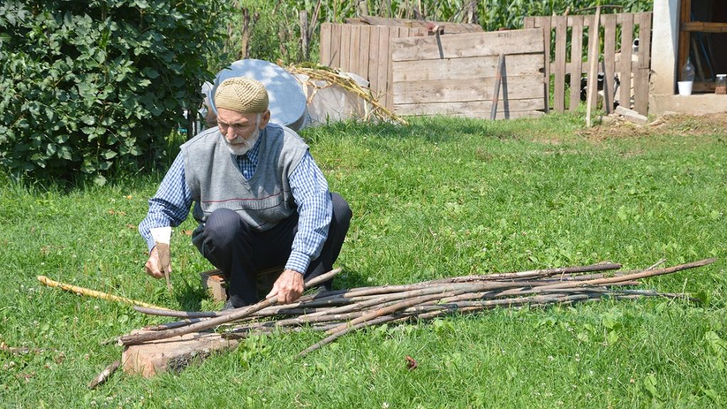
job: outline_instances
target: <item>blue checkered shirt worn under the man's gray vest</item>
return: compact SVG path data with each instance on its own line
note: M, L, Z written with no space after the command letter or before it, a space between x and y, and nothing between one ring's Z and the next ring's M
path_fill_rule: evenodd
M240 172L247 180L255 173L259 154L260 139L247 154L236 156ZM289 183L298 207L299 221L285 268L305 273L310 261L318 258L326 242L333 204L328 182L309 152L290 174ZM180 152L169 172L166 172L156 194L149 199L149 213L139 223L139 233L146 240L149 251L154 247L151 229L179 226L187 218L191 206L192 194L187 186L184 157Z

